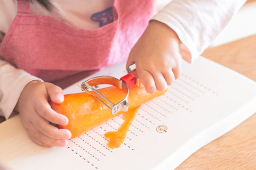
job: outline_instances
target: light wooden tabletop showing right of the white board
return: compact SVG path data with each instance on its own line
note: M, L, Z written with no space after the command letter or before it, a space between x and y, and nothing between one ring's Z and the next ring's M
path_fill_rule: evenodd
M206 49L202 56L256 81L256 35ZM179 169L256 169L256 113L197 150Z

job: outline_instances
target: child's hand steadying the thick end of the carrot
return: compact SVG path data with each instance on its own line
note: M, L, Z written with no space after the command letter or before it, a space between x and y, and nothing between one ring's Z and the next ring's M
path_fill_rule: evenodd
M58 129L49 122L66 125L68 118L53 111L49 99L62 103L62 89L51 83L31 81L22 90L15 111L20 113L23 126L35 143L45 147L66 146L70 131Z

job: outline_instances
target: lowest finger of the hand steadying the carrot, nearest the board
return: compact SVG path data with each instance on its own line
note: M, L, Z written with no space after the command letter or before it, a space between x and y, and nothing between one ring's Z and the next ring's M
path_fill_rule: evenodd
M65 147L67 145L67 140L57 140L47 137L42 132L38 131L33 123L30 123L27 128L29 137L36 142L38 145L52 147L52 146L60 146Z

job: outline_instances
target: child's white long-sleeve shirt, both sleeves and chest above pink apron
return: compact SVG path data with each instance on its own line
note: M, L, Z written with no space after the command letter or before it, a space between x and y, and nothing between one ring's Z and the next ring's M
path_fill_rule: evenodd
M186 61L193 62L212 43L245 1L173 0L152 19L169 25L177 33L191 54ZM90 15L113 4L113 0L52 2L58 8L58 13L51 13L41 6L30 4L31 13L52 16L82 29L97 29L99 26L90 20ZM16 14L15 0L0 0L0 46ZM32 80L38 78L16 69L0 57L0 115L6 119L10 117L22 89Z

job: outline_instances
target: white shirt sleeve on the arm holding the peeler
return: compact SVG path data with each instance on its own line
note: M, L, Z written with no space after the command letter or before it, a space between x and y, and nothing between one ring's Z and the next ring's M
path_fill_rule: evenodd
M173 0L152 20L169 25L189 49L193 62L226 27L246 0Z

